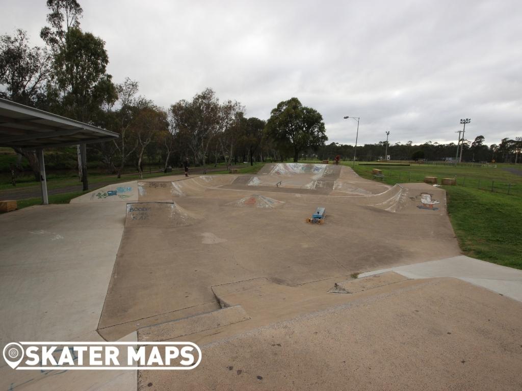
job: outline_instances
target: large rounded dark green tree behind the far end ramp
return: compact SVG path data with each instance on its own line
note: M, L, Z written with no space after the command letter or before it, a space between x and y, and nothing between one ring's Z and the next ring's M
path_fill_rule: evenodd
M270 114L267 135L280 150L292 149L294 162L298 161L301 151L316 149L328 140L323 116L315 109L303 106L296 97L280 102Z

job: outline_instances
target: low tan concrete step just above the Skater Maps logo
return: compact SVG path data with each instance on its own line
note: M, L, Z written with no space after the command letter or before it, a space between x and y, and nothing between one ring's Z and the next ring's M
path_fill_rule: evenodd
M243 307L233 306L172 322L138 329L138 341L164 341L204 332L250 319Z

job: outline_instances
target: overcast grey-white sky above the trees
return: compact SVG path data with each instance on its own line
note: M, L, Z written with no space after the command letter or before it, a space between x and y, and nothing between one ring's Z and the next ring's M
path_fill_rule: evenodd
M39 38L45 0L0 0L0 34ZM267 119L296 96L328 142L522 136L522 1L79 0L115 82L168 107L210 87Z

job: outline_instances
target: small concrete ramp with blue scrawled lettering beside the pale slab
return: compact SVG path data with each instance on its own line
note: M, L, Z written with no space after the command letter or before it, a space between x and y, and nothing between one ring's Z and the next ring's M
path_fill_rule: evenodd
M181 227L197 220L196 214L174 202L133 202L127 204L125 228Z

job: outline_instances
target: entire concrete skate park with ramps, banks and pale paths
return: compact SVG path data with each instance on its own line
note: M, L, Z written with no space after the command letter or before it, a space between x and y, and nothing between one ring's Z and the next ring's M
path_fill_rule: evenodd
M324 224L307 224L317 207ZM2 346L192 341L192 371L0 389L520 389L522 271L461 254L445 191L346 166L166 176L0 215Z

